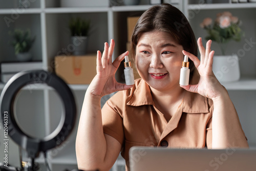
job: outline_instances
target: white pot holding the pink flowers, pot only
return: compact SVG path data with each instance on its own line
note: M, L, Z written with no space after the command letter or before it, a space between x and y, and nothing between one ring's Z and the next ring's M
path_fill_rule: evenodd
M240 79L238 56L214 56L212 71L220 82L238 81Z

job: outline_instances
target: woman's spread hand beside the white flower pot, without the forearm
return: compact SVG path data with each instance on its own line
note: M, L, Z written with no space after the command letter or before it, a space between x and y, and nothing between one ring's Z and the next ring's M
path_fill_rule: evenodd
M198 84L188 86L180 86L185 90L193 93L199 93L202 96L210 99L216 98L222 95L225 91L221 83L218 81L214 72L212 72L212 63L214 58L214 51L210 50L211 40L206 43L206 49L202 44L202 38L198 38L198 47L201 54L201 61L193 54L182 51L184 55L187 55L195 64L200 75Z

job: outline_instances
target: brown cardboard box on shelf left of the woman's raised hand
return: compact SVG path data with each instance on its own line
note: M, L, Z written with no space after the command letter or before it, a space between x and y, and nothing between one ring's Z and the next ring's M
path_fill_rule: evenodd
M55 72L69 84L90 84L96 75L96 54L56 56Z

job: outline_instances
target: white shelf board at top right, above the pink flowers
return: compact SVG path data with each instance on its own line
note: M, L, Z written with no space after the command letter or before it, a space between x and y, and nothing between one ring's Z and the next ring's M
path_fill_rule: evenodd
M256 8L256 3L188 5L188 10L233 9L233 8Z

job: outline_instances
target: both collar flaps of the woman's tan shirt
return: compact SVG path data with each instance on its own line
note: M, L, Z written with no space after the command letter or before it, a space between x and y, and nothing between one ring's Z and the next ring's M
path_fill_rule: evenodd
M127 105L153 105L153 98L150 87L142 80L136 80L136 89ZM197 93L186 92L182 102L182 112L185 113L208 113L208 98Z

